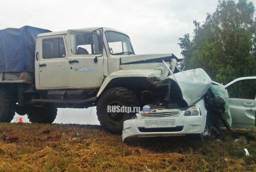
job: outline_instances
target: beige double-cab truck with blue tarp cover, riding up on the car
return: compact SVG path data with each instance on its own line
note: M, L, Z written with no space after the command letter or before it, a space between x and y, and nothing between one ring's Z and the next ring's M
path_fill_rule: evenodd
M120 134L124 121L144 105L187 109L204 101L211 84L207 74L192 72L188 83L202 82L204 89L187 85L185 95L170 77L178 72L180 59L173 54L135 55L129 36L110 28L7 28L0 30L0 50L0 122L10 122L16 112L27 114L30 122L52 123L57 108L97 106L101 126ZM117 106L128 111L108 108Z

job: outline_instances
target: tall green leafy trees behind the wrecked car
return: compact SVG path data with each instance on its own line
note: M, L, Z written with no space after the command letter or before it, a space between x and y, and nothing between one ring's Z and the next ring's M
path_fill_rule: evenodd
M256 20L248 0L219 1L203 24L194 21L194 37L180 38L182 70L203 68L212 80L226 84L256 75Z

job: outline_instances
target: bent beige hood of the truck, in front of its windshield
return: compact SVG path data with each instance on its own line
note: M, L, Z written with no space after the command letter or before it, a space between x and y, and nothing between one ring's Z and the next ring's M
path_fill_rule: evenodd
M149 62L162 62L162 60L170 61L176 59L180 62L182 59L177 58L174 54L140 54L140 55L121 55L121 64L134 64L134 63L149 63Z

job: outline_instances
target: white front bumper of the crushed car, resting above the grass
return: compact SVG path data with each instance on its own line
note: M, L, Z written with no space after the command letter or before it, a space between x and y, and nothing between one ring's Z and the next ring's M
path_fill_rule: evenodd
M158 136L182 136L185 134L202 134L206 123L207 111L204 100L201 99L195 104L200 108L200 116L184 116L186 110L180 110L177 115L164 117L142 117L136 114L137 118L124 121L122 140L131 137L158 137ZM152 110L154 111L154 110ZM177 109L166 109L167 114L177 112ZM164 112L164 110L161 110ZM151 113L150 113L151 114ZM148 114L148 116L150 116ZM172 127L148 126L154 122L174 121Z

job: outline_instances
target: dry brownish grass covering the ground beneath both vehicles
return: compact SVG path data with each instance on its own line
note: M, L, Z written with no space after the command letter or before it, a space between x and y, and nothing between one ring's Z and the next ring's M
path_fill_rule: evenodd
M44 134L44 131L50 133ZM0 124L0 171L256 171L256 131L232 130L217 138L122 137L95 125ZM239 138L238 142L234 142ZM221 141L220 141L221 140ZM250 156L246 157L244 148Z

